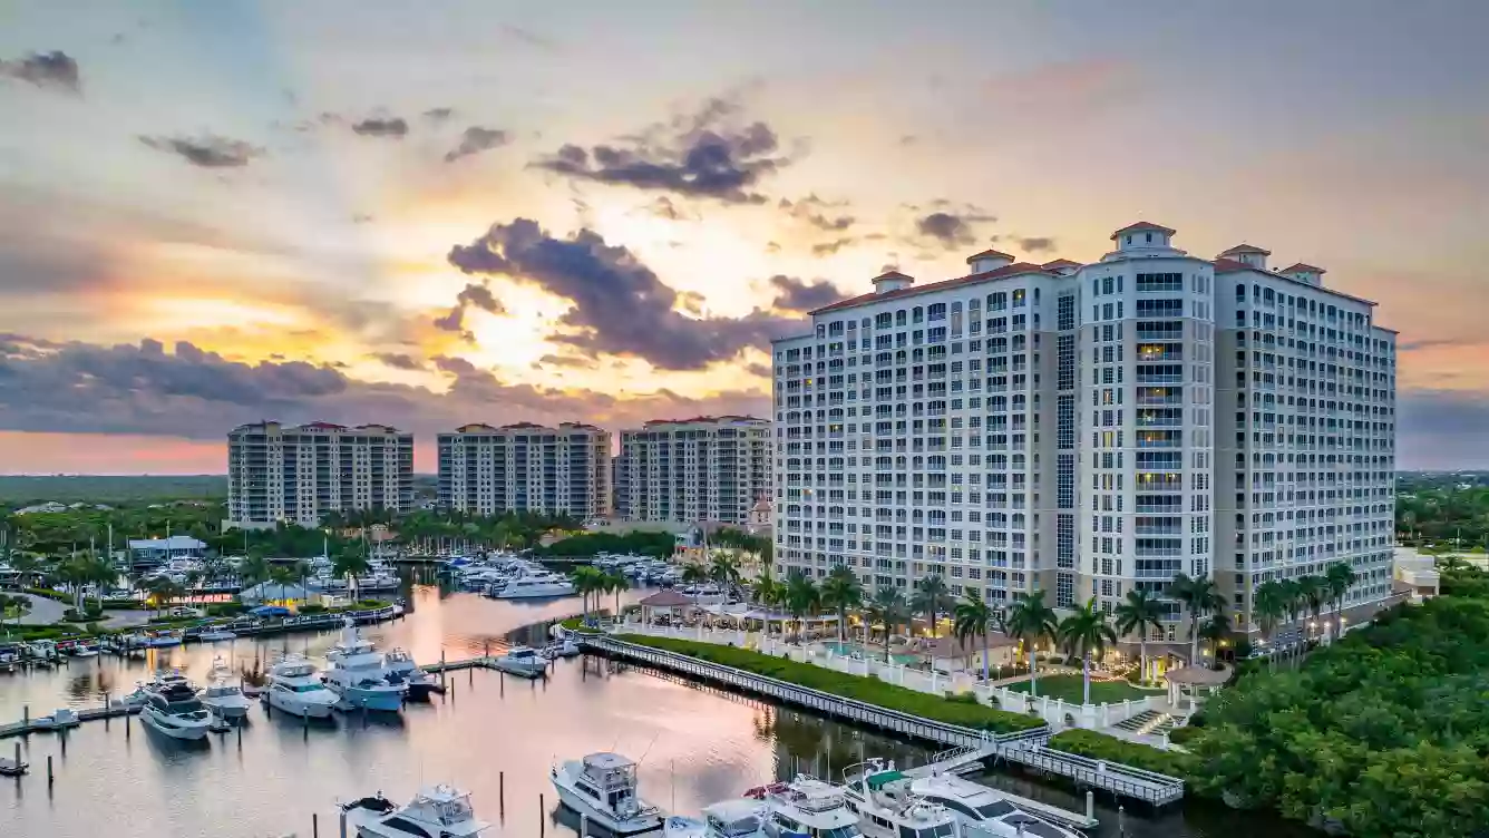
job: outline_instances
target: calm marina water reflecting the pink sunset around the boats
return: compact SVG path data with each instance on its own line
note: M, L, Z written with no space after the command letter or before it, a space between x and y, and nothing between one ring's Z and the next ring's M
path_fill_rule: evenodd
M622 595L636 598L639 592ZM542 604L493 601L471 594L442 595L420 586L404 621L371 627L381 647L404 646L421 662L479 655L485 643L539 642L535 622L578 612L578 600ZM232 645L167 649L149 661L112 656L79 661L57 671L0 674L0 719L58 706L89 707L104 691L119 695L158 665L177 665L203 680L214 655L252 668L281 649L322 655L335 633L238 640ZM901 765L926 762L932 749L722 694L599 658L560 661L546 682L471 671L450 676L453 695L409 704L402 717L368 723L338 717L308 729L287 714L250 711L237 732L188 744L134 722L89 722L67 735L34 734L0 740L10 755L22 741L33 774L0 780L0 835L46 838L265 838L337 834L335 802L386 792L402 804L421 784L453 781L474 792L476 813L496 823L488 835L573 835L557 811L548 783L554 761L596 750L640 759L642 795L673 811L692 813L797 771L838 775L861 755ZM66 747L64 747L66 746ZM48 790L46 758L57 783ZM505 774L505 817L499 798ZM1005 786L1056 805L1083 804L1060 789L992 775ZM543 805L539 805L543 795ZM1100 835L1117 835L1117 813L1099 807ZM1266 831L1272 838L1312 835L1286 825L1245 820L1230 811L1190 807L1161 820L1126 817L1127 835L1205 838Z

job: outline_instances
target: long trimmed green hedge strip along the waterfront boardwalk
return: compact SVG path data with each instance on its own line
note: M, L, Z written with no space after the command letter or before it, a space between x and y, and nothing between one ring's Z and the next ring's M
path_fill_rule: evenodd
M965 728L975 728L998 734L1032 731L1045 726L1042 720L1020 713L995 710L984 704L972 704L968 701L947 701L938 695L916 692L913 689L884 683L874 677L840 673L816 664L801 664L797 661L788 661L786 658L761 655L759 652L750 652L734 646L697 643L675 637L649 637L643 634L619 634L616 639L627 643L636 643L637 646L651 646L654 649L688 655L689 658L698 658L700 661L744 670L758 676L785 680L798 686L831 692L832 695L840 695L843 698L864 701L865 704L874 704L886 710L910 713L913 716L922 716L925 719L946 722L948 725L962 725Z

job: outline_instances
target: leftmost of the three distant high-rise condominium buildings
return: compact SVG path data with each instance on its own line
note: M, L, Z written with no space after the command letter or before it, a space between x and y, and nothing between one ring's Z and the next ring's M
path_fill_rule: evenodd
M228 525L316 527L329 512L414 505L414 435L381 424L243 424L228 433Z

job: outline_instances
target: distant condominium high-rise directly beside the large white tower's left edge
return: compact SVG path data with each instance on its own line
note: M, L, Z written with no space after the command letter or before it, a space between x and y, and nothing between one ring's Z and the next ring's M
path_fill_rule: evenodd
M743 527L770 491L770 420L658 420L621 432L615 514L627 521Z

